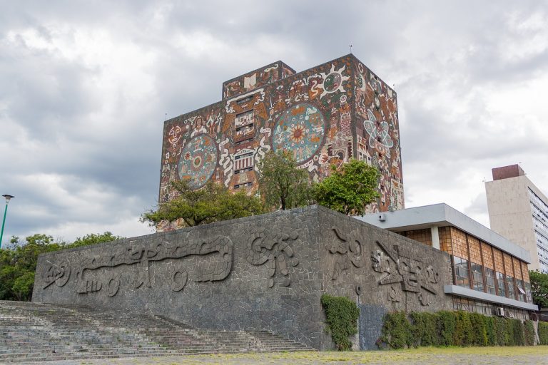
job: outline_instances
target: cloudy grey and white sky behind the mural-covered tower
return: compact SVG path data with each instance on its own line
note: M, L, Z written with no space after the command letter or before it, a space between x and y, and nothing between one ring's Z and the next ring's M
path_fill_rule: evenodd
M489 225L484 180L520 163L548 192L544 1L0 0L4 243L138 222L156 204L163 120L282 60L352 52L395 85L405 205ZM3 206L3 202L1 204Z

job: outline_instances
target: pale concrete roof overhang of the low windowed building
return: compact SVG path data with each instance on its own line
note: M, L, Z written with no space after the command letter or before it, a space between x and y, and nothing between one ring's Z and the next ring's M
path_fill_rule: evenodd
M392 232L422 230L432 226L456 227L528 264L531 263L531 257L527 250L445 203L395 210L394 212L379 212L355 218Z

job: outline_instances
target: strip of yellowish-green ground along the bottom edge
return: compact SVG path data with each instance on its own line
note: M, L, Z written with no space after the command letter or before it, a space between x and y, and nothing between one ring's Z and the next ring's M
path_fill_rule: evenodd
M21 363L19 363L21 364ZM36 364L36 363L26 363ZM212 354L123 359L47 361L46 365L304 365L304 364L406 364L406 365L545 365L548 346L470 347L451 349L410 349L403 351L288 352Z

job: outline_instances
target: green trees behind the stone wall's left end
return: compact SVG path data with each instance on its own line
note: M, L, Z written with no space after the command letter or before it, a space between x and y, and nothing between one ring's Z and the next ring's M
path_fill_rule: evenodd
M121 238L111 232L104 232L78 237L67 244L42 233L26 237L24 241L12 237L10 244L0 250L0 300L31 300L34 272L40 254Z

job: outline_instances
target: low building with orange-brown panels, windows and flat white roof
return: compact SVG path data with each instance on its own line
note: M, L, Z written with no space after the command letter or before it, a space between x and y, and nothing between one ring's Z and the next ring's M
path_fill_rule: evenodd
M451 257L454 309L529 319L529 252L449 205L436 204L355 217Z

